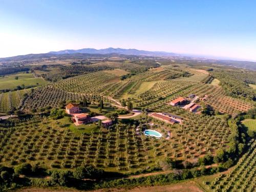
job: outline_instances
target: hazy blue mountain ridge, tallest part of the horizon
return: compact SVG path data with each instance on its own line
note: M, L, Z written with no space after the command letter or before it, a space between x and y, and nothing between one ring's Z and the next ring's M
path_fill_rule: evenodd
M164 51L143 51L137 49L121 49L121 48L106 48L106 49L67 49L62 51L51 51L51 54L73 54L73 53L88 53L88 54L123 54L123 55L144 55L144 56L178 56L175 53L168 53Z

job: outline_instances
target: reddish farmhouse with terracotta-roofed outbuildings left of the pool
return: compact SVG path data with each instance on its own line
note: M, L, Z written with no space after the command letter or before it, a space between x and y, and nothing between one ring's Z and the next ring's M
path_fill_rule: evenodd
M92 123L98 120L105 119L105 117L96 116L90 117L88 113L81 113L79 106L74 103L69 103L66 105L66 113L71 115L71 120L74 122L76 126L81 124ZM107 127L113 124L111 119L106 119L101 122L102 126Z

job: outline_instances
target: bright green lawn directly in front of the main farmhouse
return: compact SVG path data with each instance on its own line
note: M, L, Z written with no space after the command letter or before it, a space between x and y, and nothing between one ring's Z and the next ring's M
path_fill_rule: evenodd
M74 123L70 122L70 117L63 117L62 119L58 119L57 122L59 122L62 126L68 127L74 134L80 135L83 133L86 134L93 134L96 132L99 132L99 128L96 124L90 123L90 124L82 124L79 126L76 126Z

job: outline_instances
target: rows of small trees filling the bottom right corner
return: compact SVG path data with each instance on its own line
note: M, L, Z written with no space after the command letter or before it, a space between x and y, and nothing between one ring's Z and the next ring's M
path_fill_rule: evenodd
M206 183L211 191L253 191L255 189L256 173L256 142L251 142L246 154L236 166L227 173Z

